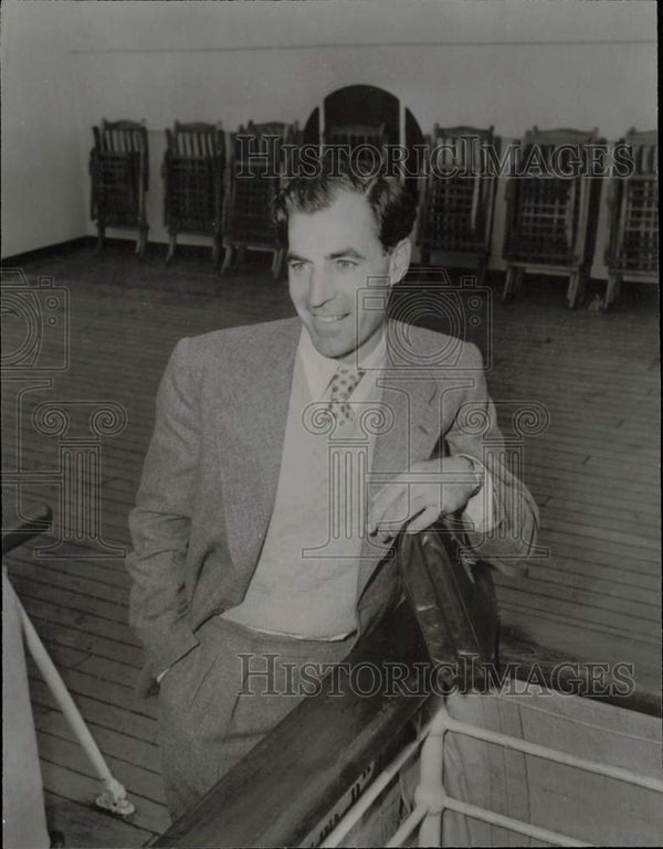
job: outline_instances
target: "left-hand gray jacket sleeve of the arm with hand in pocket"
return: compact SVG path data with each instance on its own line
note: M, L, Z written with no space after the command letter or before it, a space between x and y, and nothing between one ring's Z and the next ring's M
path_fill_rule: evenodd
M129 623L140 638L151 677L188 654L198 639L188 624L185 559L198 467L196 380L189 340L172 352L156 400L155 429L129 516L133 577Z

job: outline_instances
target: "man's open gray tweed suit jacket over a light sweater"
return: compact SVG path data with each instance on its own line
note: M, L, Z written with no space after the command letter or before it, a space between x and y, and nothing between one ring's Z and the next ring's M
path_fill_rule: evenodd
M276 494L301 327L295 318L182 339L170 358L129 517L130 623L146 649L145 691L198 644L207 618L244 597ZM494 478L501 532L473 532L470 542L498 569L517 569L534 545L538 514L501 461L477 349L393 321L387 340L382 402L393 415L376 438L371 471L398 474L443 454L482 460ZM365 543L362 630L396 592L393 561Z

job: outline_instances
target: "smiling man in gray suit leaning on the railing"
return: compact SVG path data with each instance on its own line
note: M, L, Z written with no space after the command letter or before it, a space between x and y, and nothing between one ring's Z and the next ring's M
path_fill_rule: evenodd
M506 571L535 539L476 348L387 318L410 193L301 178L275 217L297 318L178 343L130 516L130 620L173 816L298 703L303 665L343 660L398 601L399 529L459 514Z

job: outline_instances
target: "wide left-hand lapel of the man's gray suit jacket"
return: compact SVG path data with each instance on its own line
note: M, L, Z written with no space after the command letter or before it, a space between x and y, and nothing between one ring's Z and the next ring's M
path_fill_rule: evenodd
M241 373L224 375L218 446L232 562L249 580L276 497L285 424L302 325L286 322Z

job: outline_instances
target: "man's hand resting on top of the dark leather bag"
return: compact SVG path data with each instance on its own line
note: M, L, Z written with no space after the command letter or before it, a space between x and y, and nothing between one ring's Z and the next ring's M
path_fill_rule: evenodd
M441 466L440 460L417 463L376 494L368 532L379 542L389 542L406 523L408 533L423 531L442 513L462 510L481 485L481 471L466 457L444 457Z

